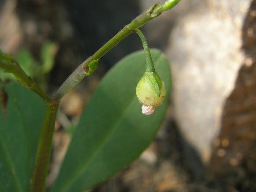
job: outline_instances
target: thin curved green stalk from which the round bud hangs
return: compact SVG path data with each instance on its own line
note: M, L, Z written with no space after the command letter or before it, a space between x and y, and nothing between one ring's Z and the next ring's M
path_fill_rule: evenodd
M147 40L146 40L145 36L143 35L143 33L139 29L136 29L135 31L139 35L139 37L141 39L141 42L142 42L142 45L143 45L143 48L144 48L144 51L145 51L146 72L154 72L155 67L154 67L153 60L152 60L152 57L151 57L151 54L150 54L150 50L149 50L149 47L148 47L148 44L147 44Z

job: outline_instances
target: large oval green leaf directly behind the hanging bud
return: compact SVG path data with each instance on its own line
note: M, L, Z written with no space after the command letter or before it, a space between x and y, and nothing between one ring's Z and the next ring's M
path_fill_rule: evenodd
M120 60L95 91L80 119L51 192L81 192L123 169L148 147L169 104L169 62L152 50L166 98L152 115L141 113L136 85L145 71L144 51Z

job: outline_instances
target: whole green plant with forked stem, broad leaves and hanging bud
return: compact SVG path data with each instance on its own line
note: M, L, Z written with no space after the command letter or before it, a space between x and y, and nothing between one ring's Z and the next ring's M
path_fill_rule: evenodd
M138 28L179 1L156 3L136 17L79 65L53 97L22 70L13 56L0 51L0 69L12 73L19 82L1 81L1 192L45 191L54 123L61 98L96 70L98 59L133 32L139 35L146 57L142 51L132 53L105 75L81 115L50 191L86 190L121 170L142 153L164 119L171 78L168 60L158 50L149 51ZM140 112L135 89L142 113L146 115ZM147 116L149 114L152 115Z

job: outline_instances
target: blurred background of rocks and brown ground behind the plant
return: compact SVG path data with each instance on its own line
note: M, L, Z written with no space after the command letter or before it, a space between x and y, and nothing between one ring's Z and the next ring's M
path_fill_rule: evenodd
M0 0L0 49L53 95L81 62L156 2ZM137 161L87 192L256 191L256 0L182 0L141 30L170 61L167 117ZM102 76L140 49L136 35L125 38L61 101L48 188ZM35 65L44 66L43 75Z

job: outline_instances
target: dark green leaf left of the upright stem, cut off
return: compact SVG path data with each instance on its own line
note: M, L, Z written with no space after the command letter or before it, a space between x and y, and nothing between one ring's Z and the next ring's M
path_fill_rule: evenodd
M16 82L6 84L5 90L7 114L0 104L0 191L28 192L45 104Z

